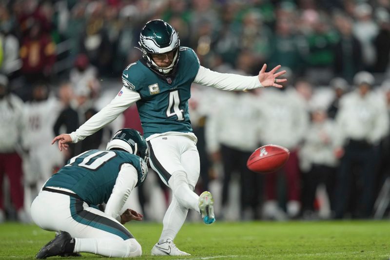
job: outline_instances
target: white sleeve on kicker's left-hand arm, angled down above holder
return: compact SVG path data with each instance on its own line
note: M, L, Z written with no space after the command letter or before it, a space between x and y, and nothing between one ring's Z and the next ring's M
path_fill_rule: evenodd
M140 100L138 92L122 87L117 96L111 102L103 107L92 118L83 123L75 132L70 134L72 142L78 142L98 132L101 128L115 120L120 113L129 106Z

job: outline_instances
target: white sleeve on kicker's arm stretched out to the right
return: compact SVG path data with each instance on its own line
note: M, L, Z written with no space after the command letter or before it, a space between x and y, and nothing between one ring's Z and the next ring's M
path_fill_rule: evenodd
M263 87L257 76L219 73L203 66L199 67L194 82L222 90L246 90Z

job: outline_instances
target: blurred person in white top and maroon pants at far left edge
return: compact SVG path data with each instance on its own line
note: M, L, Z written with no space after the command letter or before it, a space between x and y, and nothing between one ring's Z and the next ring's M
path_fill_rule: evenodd
M0 75L0 223L5 221L3 180L8 177L12 204L18 220L28 221L23 210L22 160L18 152L22 145L23 101L8 91L8 78ZM19 148L19 149L18 149Z

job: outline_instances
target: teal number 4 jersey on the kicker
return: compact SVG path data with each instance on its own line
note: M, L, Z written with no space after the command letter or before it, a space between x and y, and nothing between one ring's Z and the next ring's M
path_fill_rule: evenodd
M180 47L177 69L172 76L156 74L143 60L123 71L123 85L141 96L137 108L145 138L170 131L192 132L188 100L199 66L195 52Z

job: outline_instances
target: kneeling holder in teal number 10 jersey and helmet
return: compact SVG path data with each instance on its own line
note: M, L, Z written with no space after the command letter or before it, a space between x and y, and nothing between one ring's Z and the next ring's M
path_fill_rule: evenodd
M69 160L53 175L31 204L41 228L59 235L36 258L76 256L88 252L105 257L138 257L141 245L123 226L142 215L122 207L147 175L148 144L134 129L119 130L107 149L89 150ZM92 207L106 203L104 212Z

